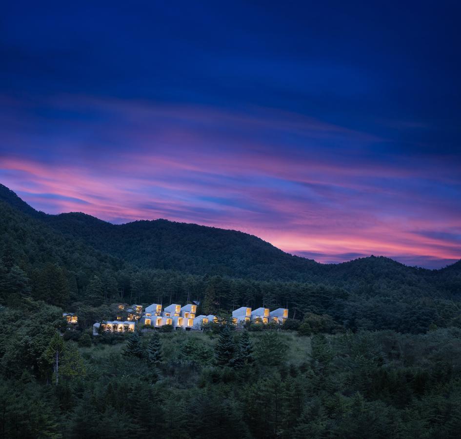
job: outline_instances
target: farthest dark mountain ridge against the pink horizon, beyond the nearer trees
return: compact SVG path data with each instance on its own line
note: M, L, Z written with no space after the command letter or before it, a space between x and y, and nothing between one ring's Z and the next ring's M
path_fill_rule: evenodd
M63 239L84 244L92 252L123 260L143 269L174 270L199 275L221 275L257 280L297 280L341 286L366 282L374 288L433 295L443 273L455 279L461 261L443 270L407 267L392 259L369 257L341 264L320 264L289 255L246 233L168 220L135 221L115 225L83 213L47 215L37 212L13 191L0 185L0 200ZM37 227L36 223L36 227ZM429 282L429 284L428 284ZM453 282L441 282L453 287Z

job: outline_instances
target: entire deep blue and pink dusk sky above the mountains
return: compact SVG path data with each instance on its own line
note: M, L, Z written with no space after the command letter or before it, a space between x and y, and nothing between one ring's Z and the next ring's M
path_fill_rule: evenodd
M0 182L47 213L461 258L458 1L7 2Z

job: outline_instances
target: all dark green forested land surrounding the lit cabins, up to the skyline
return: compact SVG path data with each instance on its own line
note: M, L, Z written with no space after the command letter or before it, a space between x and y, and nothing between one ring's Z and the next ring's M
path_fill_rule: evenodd
M281 330L90 335L115 302L188 300L198 314L283 306L290 319ZM76 331L63 311L78 314ZM0 186L0 327L0 437L461 431L461 262L322 265L241 232L50 216Z

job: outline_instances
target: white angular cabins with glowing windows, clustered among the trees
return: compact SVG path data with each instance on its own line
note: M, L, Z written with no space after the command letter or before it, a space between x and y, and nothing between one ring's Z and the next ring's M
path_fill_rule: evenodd
M132 305L132 308L134 306ZM153 303L145 308L145 312L142 313L138 322L140 325L152 326L153 328L171 325L174 329L190 331L202 330L207 323L218 321L218 317L211 314L208 316L196 316L196 311L197 305L195 304L181 306L177 303L172 303L162 310L160 303ZM255 323L275 322L282 324L287 318L288 310L286 308L278 308L274 311L270 311L269 308L258 308L253 311L251 308L242 306L232 312L233 323L237 326L243 326L246 322L251 321ZM133 320L95 323L93 325L93 334L98 334L100 326L105 331L124 332L133 331L134 325L135 322Z

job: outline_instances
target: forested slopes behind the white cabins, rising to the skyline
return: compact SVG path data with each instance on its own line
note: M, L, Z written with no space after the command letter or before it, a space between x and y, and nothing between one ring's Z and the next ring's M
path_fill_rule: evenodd
M461 313L459 262L442 270L383 257L320 264L236 231L167 220L113 225L82 213L47 215L4 186L0 237L0 304L16 291L78 308L82 315L82 304L194 298L216 304L216 312L288 306L296 318L328 314L351 329L404 332L425 332L431 323L447 326ZM106 311L97 313L104 317Z

